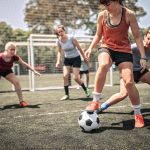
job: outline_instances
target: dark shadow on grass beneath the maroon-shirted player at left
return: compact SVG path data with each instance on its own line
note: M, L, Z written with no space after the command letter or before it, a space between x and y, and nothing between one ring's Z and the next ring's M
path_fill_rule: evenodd
M13 105L6 105L0 108L0 110L5 110L5 109L22 109L22 108L40 108L40 105L42 104L36 104L36 105L28 105L26 107L21 107L19 104L13 104Z

